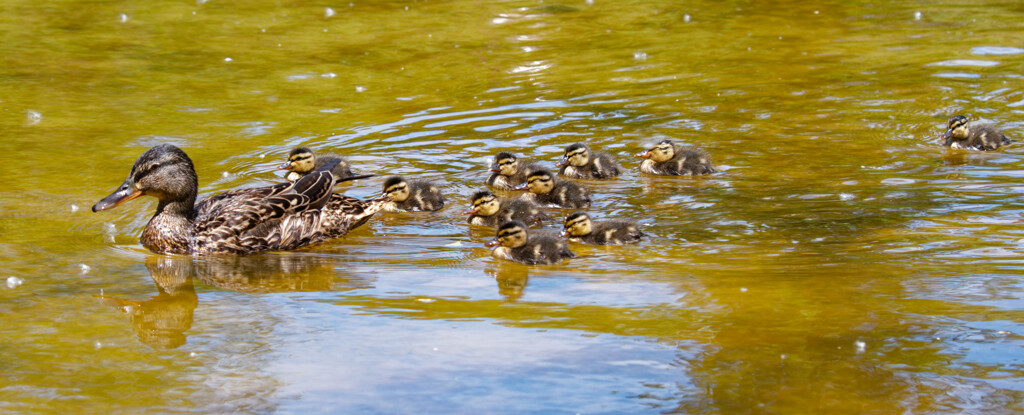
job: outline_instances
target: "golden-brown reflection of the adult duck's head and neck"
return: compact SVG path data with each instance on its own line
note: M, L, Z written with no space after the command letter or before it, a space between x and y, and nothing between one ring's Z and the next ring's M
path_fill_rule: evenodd
M191 258L151 256L145 267L157 283L157 296L145 301L100 296L100 300L128 315L138 339L155 348L175 348L185 343L193 312L199 302L193 287Z

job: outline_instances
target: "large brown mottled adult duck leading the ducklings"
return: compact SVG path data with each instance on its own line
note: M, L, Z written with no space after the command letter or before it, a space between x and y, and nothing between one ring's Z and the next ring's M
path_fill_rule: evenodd
M248 254L288 250L338 238L366 222L387 198L360 201L333 194L330 171L288 183L228 191L199 203L199 179L181 149L160 144L142 154L124 183L93 212L139 196L160 201L139 242L157 253Z

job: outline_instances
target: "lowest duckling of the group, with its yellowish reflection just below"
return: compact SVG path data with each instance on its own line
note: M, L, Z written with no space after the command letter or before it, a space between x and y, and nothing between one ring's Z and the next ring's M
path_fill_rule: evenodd
M483 246L494 247L496 258L528 264L552 264L574 257L564 241L548 236L530 236L526 225L518 220L505 222L498 236Z

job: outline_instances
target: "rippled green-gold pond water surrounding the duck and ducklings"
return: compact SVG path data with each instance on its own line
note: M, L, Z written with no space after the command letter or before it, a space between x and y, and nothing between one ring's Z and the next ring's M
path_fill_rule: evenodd
M1024 150L936 142L957 113L1024 138L1015 3L0 10L0 412L1024 411ZM639 174L664 137L723 173ZM459 213L493 155L574 141L628 170L584 181L591 215L649 238L492 258ZM152 198L89 207L161 142L202 197L280 181L302 144L451 202L298 252L154 255Z

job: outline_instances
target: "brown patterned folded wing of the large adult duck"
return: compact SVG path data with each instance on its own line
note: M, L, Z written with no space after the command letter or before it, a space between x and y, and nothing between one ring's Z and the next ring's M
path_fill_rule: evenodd
M282 227L300 220L304 212L315 212L331 200L334 176L330 171L314 171L291 183L267 188L232 191L204 201L195 221L197 250L228 250L240 244L242 237L262 223L265 227ZM288 217L294 216L294 219ZM273 223L282 219L286 223ZM308 221L304 218L300 221ZM268 241L269 242L269 241ZM252 245L250 241L246 246Z

